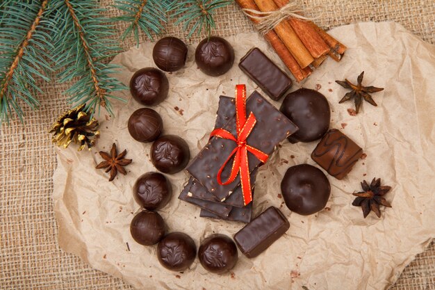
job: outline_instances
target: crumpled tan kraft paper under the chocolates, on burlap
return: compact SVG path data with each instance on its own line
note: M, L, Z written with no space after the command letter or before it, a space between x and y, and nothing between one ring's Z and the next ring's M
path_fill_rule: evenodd
M129 225L139 210L131 188L145 172L155 170L149 161L150 143L133 140L127 120L140 108L128 91L120 92L128 102L115 102L115 118L101 113L101 139L91 152L74 146L58 149L54 173L54 203L59 224L59 245L79 255L92 267L138 289L386 289L403 268L422 252L435 235L434 145L435 145L435 47L406 31L386 23L361 23L330 31L349 49L340 63L328 59L315 70L306 88L318 88L331 105L331 128L342 130L367 154L343 180L329 175L331 198L327 208L312 216L290 212L281 198L279 184L289 166L315 165L310 154L317 144L285 141L258 171L254 216L271 205L279 207L290 221L288 232L254 259L239 251L231 273L208 273L198 259L188 271L174 273L163 268L156 246L135 243ZM227 38L236 51L236 63L224 76L206 76L194 61L195 46L189 47L186 67L167 74L170 95L154 107L161 114L165 134L183 137L192 157L206 144L215 122L219 95L233 97L234 86L246 83L248 94L258 89L237 66L252 47L259 47L281 65L260 35L240 34ZM122 65L117 77L128 84L133 72L154 66L153 44L133 47L113 60ZM356 81L365 71L363 83L385 88L373 94L378 106L363 103L356 116L347 113L353 102L338 104L345 95L335 80ZM295 84L293 90L299 85ZM278 108L279 102L272 102ZM126 169L108 182L97 152L119 150L133 159ZM317 165L315 165L317 166ZM167 175L173 186L170 203L161 211L169 232L186 232L197 247L213 233L233 236L243 224L199 218L199 209L177 199L188 175ZM392 186L386 199L392 209L382 207L382 217L364 219L353 207L352 193L360 191L363 179L380 177ZM127 246L128 243L128 246Z

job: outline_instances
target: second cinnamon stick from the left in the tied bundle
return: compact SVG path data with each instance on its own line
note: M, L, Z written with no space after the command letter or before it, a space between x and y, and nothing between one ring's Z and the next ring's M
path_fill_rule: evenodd
M254 0L254 2L262 12L269 12L278 9L273 0ZM286 45L290 53L293 54L293 57L300 67L307 67L314 61L313 56L311 56L302 41L297 37L297 34L288 22L283 21L279 23L275 26L274 31L277 33L284 45Z

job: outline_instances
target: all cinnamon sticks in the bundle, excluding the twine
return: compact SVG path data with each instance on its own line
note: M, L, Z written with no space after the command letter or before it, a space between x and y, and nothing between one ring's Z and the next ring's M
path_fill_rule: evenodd
M240 8L270 12L288 0L236 0ZM249 13L248 13L249 14ZM258 19L249 17L258 24ZM289 17L265 34L274 51L297 81L306 79L327 56L340 61L347 47L311 21Z

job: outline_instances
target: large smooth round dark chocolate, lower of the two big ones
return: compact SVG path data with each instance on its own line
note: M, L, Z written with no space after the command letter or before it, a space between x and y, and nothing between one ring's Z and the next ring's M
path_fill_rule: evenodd
M331 186L322 170L300 164L288 168L281 182L281 192L290 211L308 216L325 207Z

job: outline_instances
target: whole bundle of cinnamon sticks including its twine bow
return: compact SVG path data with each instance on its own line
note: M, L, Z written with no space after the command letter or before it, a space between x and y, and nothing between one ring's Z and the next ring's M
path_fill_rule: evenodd
M299 13L295 1L236 0L258 26L297 81L306 79L327 56L340 61L347 49Z

